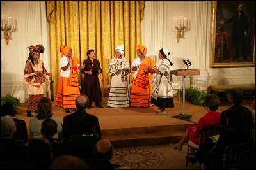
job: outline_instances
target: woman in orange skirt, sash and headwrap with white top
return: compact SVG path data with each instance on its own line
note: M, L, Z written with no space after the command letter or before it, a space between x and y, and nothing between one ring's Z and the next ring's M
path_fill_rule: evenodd
M76 111L76 98L80 96L78 69L81 70L84 66L80 66L76 57L71 57L70 47L61 45L60 52L64 57L60 59L61 72L55 105L64 108L66 113L70 113L70 109Z

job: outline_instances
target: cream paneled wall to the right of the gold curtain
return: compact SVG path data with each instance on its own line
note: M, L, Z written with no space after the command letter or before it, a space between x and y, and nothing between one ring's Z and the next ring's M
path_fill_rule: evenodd
M189 59L189 69L200 69L186 85L206 89L209 85L255 83L255 67L211 68L211 1L145 1L142 22L142 43L155 61L166 47L173 60L172 69L186 69L183 59ZM174 18L189 19L189 30L177 43Z

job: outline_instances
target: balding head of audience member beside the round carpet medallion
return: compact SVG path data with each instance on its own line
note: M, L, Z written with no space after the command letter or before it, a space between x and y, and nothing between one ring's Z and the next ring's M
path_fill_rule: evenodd
M113 155L113 146L107 139L101 139L94 147L93 154L98 160L111 160Z

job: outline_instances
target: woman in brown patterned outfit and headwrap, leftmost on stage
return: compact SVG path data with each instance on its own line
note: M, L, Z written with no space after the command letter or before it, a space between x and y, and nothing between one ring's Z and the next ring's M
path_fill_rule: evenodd
M40 60L40 53L44 53L43 45L29 46L29 57L24 69L24 83L28 85L28 106L27 116L33 117L32 111L37 113L37 104L44 97L45 76L51 76L44 67L44 62Z

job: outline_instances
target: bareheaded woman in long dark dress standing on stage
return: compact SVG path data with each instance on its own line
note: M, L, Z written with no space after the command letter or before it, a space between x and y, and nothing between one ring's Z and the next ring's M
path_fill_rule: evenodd
M83 94L86 94L89 97L88 109L92 108L92 102L95 102L96 107L103 108L101 105L102 93L98 78L98 75L102 73L100 62L95 59L94 50L88 50L87 57L88 59L83 62L85 67L81 71L81 73L84 74Z

